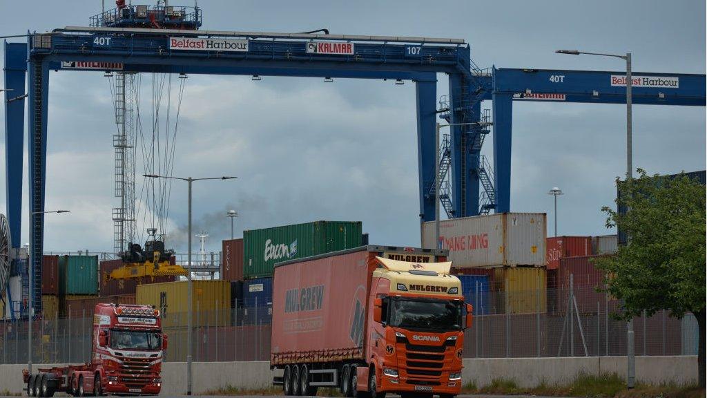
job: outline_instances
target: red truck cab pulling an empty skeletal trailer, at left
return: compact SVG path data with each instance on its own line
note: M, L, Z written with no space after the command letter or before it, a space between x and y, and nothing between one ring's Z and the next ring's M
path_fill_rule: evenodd
M167 336L160 312L148 305L97 304L93 314L91 360L83 365L23 370L30 397L67 392L76 397L103 394L157 395Z

